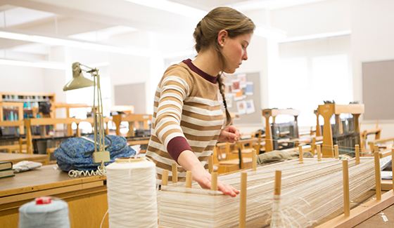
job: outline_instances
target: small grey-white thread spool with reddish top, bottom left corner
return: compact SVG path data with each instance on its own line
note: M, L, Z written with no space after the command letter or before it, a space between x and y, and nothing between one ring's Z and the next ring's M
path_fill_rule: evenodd
M38 197L19 208L19 228L70 228L68 204L49 196Z

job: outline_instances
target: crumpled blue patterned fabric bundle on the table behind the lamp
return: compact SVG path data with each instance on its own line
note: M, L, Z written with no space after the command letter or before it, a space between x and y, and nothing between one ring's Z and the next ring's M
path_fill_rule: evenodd
M94 141L94 135L89 135ZM124 158L136 154L134 149L127 145L127 140L118 135L106 135L106 151L110 152L110 162L113 163L117 158ZM109 145L109 147L108 147ZM98 149L98 147L97 147ZM97 170L98 163L93 163L94 143L84 138L69 138L61 142L60 147L55 149L53 156L58 161L61 170L68 172L70 170Z

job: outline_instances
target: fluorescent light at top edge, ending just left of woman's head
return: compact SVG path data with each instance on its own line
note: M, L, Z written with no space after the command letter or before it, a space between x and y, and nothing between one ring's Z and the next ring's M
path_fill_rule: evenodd
M197 18L201 20L208 12L200 10L198 8L193 8L190 6L185 6L182 4L178 4L173 1L167 0L125 0L132 2L134 4L139 4L141 6L148 6L150 8L156 8L160 11L167 11L171 13L176 13L179 15L184 15L189 18Z

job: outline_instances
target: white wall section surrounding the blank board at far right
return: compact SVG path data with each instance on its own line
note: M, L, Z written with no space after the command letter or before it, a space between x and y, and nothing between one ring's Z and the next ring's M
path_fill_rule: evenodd
M352 0L351 8L353 92L362 100L362 62L394 59L394 1ZM375 126L362 122L362 130ZM381 138L394 137L394 121L381 121L379 127Z

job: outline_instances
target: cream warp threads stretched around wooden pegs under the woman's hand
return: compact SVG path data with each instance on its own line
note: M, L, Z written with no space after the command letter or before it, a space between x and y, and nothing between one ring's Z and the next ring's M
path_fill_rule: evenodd
M358 154L358 147L356 150ZM321 159L319 145L318 159L303 159L302 148L300 154L300 160L240 170L219 177L222 182L241 189L242 194L240 177L247 175L246 227L309 227L343 208L343 195L346 192L343 190L343 180L346 179L341 176L345 170L348 170L349 191L348 197L345 197L348 205L350 200L374 187L375 180L379 180L376 189L379 189L380 194L379 152L374 158L360 159L360 156L356 156L350 159L346 169L343 161ZM273 207L274 192L277 192L277 170L281 170L281 195L278 205ZM379 173L379 177L376 173ZM180 182L162 185L160 227L238 227L241 224L242 196L231 198L222 192L201 189L199 185L190 186L184 187ZM376 197L379 199L378 192Z

